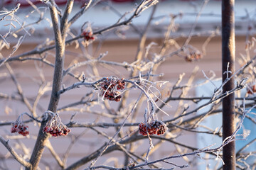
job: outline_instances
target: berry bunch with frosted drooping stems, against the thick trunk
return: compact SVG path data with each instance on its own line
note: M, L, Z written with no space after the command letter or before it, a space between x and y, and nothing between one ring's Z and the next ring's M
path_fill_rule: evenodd
M43 132L49 133L53 137L66 136L71 131L67 126L61 123L58 113L49 112L51 119L46 123Z

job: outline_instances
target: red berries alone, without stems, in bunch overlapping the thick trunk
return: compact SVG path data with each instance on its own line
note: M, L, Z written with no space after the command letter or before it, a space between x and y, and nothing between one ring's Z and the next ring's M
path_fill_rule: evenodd
M43 132L50 133L50 135L52 135L53 137L68 135L70 131L71 130L69 128L63 125L52 125L52 126L46 125L43 128Z

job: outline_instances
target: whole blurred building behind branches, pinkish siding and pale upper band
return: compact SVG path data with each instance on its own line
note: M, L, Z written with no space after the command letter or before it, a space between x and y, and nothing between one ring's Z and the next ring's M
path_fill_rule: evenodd
M58 4L58 6L60 6L60 9L63 9L65 7L65 0L55 0L55 2L56 4ZM73 12L70 14L70 16L73 16L77 11L80 10L83 2L84 1L75 1L75 6L73 7ZM101 28L105 28L106 26L110 26L116 23L119 20L120 16L122 16L125 12L132 11L135 2L139 3L139 1L133 0L101 1L99 4L94 6L94 8L90 8L78 21L73 24L73 26L70 28L70 34L68 35L67 40L75 37L76 35L80 35L80 33L82 33L81 30L83 29L91 27L92 31L95 32L97 30L100 30ZM21 47L19 47L12 56L18 56L23 52L33 50L38 47L39 44L46 42L46 40L53 39L53 30L51 28L49 11L44 4L41 4L40 1L5 0L0 2L0 6L2 9L7 8L8 10L11 10L18 3L21 4L17 13L15 13L15 18L18 22L12 22L12 24L16 28L14 28L14 26L10 26L10 21L0 21L0 34L2 36L5 35L10 29L20 29L21 26L23 26L23 22L25 22L26 25L28 23L34 23L36 21L39 21L39 13L36 11L36 8L31 7L31 3L37 6L37 9L39 9L41 12L43 12L43 18L46 19L43 19L38 24L24 28L20 32L16 33L16 36L10 35L8 38L6 38L6 41L9 42L11 46L9 48L5 47L4 50L1 51L1 54L4 57L8 57L11 54L11 51L13 50L13 45L16 44L18 38L20 38L21 36L24 37L22 39L23 42L21 44ZM108 4L108 6L106 7L105 4ZM164 73L164 80L175 82L177 81L179 74L185 73L186 75L183 79L183 83L185 83L195 67L198 67L200 71L194 79L194 81L196 82L204 79L203 74L201 74L201 70L206 72L206 74L208 74L209 71L213 71L218 77L221 76L221 2L210 0L201 11L202 4L202 1L166 0L160 1L160 3L157 5L154 19L151 22L151 26L146 33L146 45L149 45L150 42L156 42L156 44L161 45L161 43L163 42L164 33L166 32L166 29L171 22L171 17L176 16L174 20L175 26L174 29L171 30L170 38L173 38L174 40L176 40L176 42L178 42L179 45L182 45L183 42L185 42L188 38L188 35L191 34L193 36L191 38L190 45L193 45L193 47L196 47L196 49L200 51L206 51L203 58L198 62L186 62L184 60L184 57L177 56L171 57L169 60L166 60L157 71L158 73ZM235 33L237 57L239 57L241 54L245 54L245 42L247 42L248 40L250 41L252 36L255 35L255 6L256 1L253 0L235 1ZM151 11L151 8L149 8L148 10L144 11L139 17L134 18L134 20L132 21L133 26L122 26L118 29L108 31L107 33L104 33L102 35L98 35L95 40L96 42L90 45L85 51L76 48L76 43L78 42L69 45L66 50L65 68L67 68L72 63L84 60L85 56L98 57L100 53L105 52L108 52L107 56L104 57L105 60L129 63L134 62L134 58L137 53L137 48L139 44L139 34L142 33L145 24L149 20ZM201 13L199 18L197 18L198 13ZM128 13L126 18L129 18L130 15L131 14ZM85 25L85 27L82 28L81 26L84 23L87 24ZM191 32L191 28L193 28L195 23L196 25ZM210 42L208 42L208 44L206 45L208 38L211 36L213 36L213 38L211 38ZM206 47L204 45L206 45ZM159 50L159 48L153 48L152 53L156 52L157 50ZM251 55L253 55L253 51ZM54 60L54 51L50 51L48 53L48 59L50 61ZM38 89L34 87L35 84L39 82L38 79L40 79L40 76L38 74L39 71L35 71L37 70L36 68L39 66L41 66L40 63L33 61L22 62L22 64L21 62L13 62L11 64L11 67L13 67L19 83L21 84L23 93L31 99L31 102L33 102L33 99L35 97L33 96L33 94L38 91ZM240 66L238 65L237 67ZM115 67L100 67L99 70L100 76L102 77L108 77L112 74L115 74L115 76L118 77L127 77L128 75L125 69L119 69ZM85 74L87 74L88 76L90 75L89 73L92 72L92 70L87 67L81 67L80 69L78 69L78 71L85 72ZM44 78L47 81L51 81L53 67L50 67L48 65L43 66L43 74ZM76 74L76 72L74 72L74 74ZM8 72L6 72L5 67L0 67L0 93L8 94L10 96L16 95L16 93L14 93L14 91L16 91L16 86L9 78L9 74ZM73 82L74 79L70 78L64 80L66 86L73 84ZM206 87L206 89L208 87ZM136 98L137 94L135 92L132 93L132 96ZM202 94L200 89L195 89L194 91L189 91L188 93L189 96L201 96ZM41 98L40 100L38 113L43 113L47 109L49 93L46 94L48 95L43 96L43 98ZM66 106L68 103L73 103L74 101L77 101L81 97L80 95L81 91L78 90L72 91L72 93L64 95L63 98L61 98L60 100L60 108ZM9 99L6 98L0 98L0 100L0 120L13 121L20 113L28 112L27 108L22 106L21 102L11 102L9 101ZM177 108L173 106L173 108L166 109L169 113L174 113ZM64 113L61 115L63 123L68 123L70 115L72 115L73 113L74 112L70 113L68 111L64 111ZM95 115L78 114L77 117L75 117L75 120L88 123L95 121L95 118L97 118ZM169 119L165 115L161 115L161 118ZM110 119L106 121L112 120ZM138 122L139 121L143 121L143 113L141 116L139 116ZM37 135L38 128L33 129L33 123L31 123L30 127L30 137L34 138ZM0 135L5 136L7 134L11 138L9 128L10 126L5 126L1 128ZM73 130L73 132L73 135L75 136L79 135L82 130L75 129ZM31 140L31 138L26 140L25 145L27 145L27 147L33 147L34 145L34 140ZM178 141L182 142L184 145L189 145L193 147L203 147L204 145L210 145L208 144L208 140L205 140L205 143L199 143L198 139L201 140L201 138L203 138L203 136L198 137L193 132L187 132L187 134L179 138ZM63 155L64 150L67 147L65 146L65 144L70 142L71 140L71 137L58 139L53 138L50 140L50 142L52 142L53 147L55 147L55 151L58 152L60 155ZM15 142L21 143L23 142L23 140L18 139L15 140ZM85 142L89 145L84 145ZM89 134L86 134L86 136L78 142L77 147L71 149L68 164L74 162L80 157L84 157L86 154L90 154L90 152L94 151L95 149L97 149L97 147L101 145L100 142L101 141L99 141L97 138L95 139L94 133L89 132ZM11 144L14 145L14 142L11 142ZM147 147L148 146L138 149L146 149ZM175 147L170 146L170 143L164 144L164 147L165 148L159 148L159 151L153 154L151 158L156 159L158 157L162 157L162 155L169 155L175 150ZM19 148L17 147L16 149L19 150ZM24 150L21 149L19 152L24 152ZM28 150L28 152L32 151ZM8 159L8 166L15 169L15 167L18 166L18 163L14 162L11 159L11 156L6 153L6 149L2 145L0 145L0 158ZM119 153L114 152L113 154ZM120 155L123 156L123 154ZM51 157L48 149L45 150L43 154L43 159L46 162L46 166L47 164L56 164L55 160ZM105 160L100 160L100 163L105 163L106 159L107 157L105 157ZM123 160L110 160L110 162L111 161L122 162ZM177 162L176 164L186 163L184 160L178 160ZM199 160L199 162L202 162L202 160ZM0 167L1 166L4 167L4 165L0 164ZM203 164L202 169L204 169L205 166L208 166L208 164ZM193 169L197 169L197 167L200 166L195 166L193 167ZM191 167L188 167L187 169L191 169Z

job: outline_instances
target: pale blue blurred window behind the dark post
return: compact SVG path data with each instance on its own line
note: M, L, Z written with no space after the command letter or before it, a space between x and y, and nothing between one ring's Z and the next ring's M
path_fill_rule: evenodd
M203 81L198 81L198 84L203 83ZM215 86L220 86L221 81L214 81ZM215 86L211 83L203 84L202 86L199 86L196 89L196 96L201 97L201 96L212 96L213 95L213 90L215 89ZM245 96L246 89L242 89L241 91L241 96ZM203 100L198 103L198 106L201 106L203 103L206 103L208 100ZM238 102L238 101L237 101ZM240 101L242 103L242 101ZM221 105L220 105L221 108ZM201 111L198 111L198 114L201 113L206 113L209 111L210 106L207 106L206 108L201 109ZM249 109L249 108L247 108ZM256 121L256 108L252 109L250 113L247 115L250 115L250 118ZM206 118L206 120L203 120L200 123L201 126L203 127L208 127L212 130L219 130L219 128L222 125L222 114L218 113L216 115L211 115L210 118ZM206 131L206 128L198 128L198 130L201 131ZM246 135L248 135L246 137ZM243 137L246 137L245 140L239 140L242 139ZM242 147L247 145L249 142L255 140L256 137L256 125L253 123L252 120L249 118L245 118L245 120L242 123L242 128L238 131L238 136L237 136L237 141L236 141L236 152L238 152ZM198 133L197 134L197 144L198 148L204 148L208 147L210 145L215 144L213 147L218 147L222 143L222 137L218 136L213 136L213 135L208 135L205 133ZM250 147L247 147L243 152L255 152L256 150L256 141L250 145ZM206 154L202 154L202 156L205 156ZM213 159L210 159L209 161L206 161L205 159L198 158L198 170L204 170L206 167L209 169L215 169L215 166L219 167L222 166L222 162L220 159L218 161L215 160L216 157L210 155L209 157L212 157ZM242 159L242 161L247 162L247 164L252 163L255 161L255 157L248 157L245 159ZM238 162L238 164L242 164L241 162Z

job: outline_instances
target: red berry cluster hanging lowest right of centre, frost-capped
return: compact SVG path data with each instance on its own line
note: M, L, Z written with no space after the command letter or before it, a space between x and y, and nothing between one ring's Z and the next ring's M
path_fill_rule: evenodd
M166 124L159 120L151 121L151 123L148 124L148 127L146 127L145 123L139 124L139 133L143 136L147 135L146 132L149 132L149 135L164 135L166 130L168 130Z

